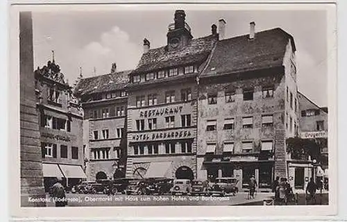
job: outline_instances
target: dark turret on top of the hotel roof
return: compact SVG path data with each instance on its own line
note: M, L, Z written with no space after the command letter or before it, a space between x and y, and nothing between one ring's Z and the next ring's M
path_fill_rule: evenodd
M193 36L190 33L190 27L185 22L185 11L176 10L174 23L169 24L167 32L167 48L169 51L182 49L186 46Z

